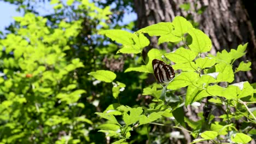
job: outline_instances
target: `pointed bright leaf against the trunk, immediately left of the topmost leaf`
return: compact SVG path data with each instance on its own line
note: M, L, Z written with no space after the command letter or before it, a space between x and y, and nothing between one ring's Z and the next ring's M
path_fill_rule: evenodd
M150 36L160 36L170 34L173 31L173 25L171 22L159 22L154 25L147 26L139 29L137 33L148 33Z

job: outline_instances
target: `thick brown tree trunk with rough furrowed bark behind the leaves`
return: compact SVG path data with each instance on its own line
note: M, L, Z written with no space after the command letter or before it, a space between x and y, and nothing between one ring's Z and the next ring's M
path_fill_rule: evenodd
M236 74L236 81L256 82L256 40L254 30L249 20L247 10L243 7L241 0L222 1L184 1L184 0L135 0L137 13L137 27L143 28L158 22L172 21L175 16L192 16L199 23L199 29L205 32L212 40L212 54L226 49L236 49L240 44L249 43L246 57L252 62L252 70ZM185 11L179 7L184 3L190 3L190 10ZM195 11L206 8L202 14ZM151 47L157 47L157 39L150 38ZM167 49L167 45L160 46ZM237 67L239 62L235 63Z

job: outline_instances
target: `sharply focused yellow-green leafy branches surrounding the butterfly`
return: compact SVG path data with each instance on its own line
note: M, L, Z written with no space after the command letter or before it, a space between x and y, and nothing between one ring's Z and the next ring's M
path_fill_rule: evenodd
M103 31L101 34L123 44L125 51L122 50L124 48L121 48L119 52L137 54L141 53L143 47L148 45L146 38L140 39L139 42L134 40L134 35L141 37L143 33L148 33L150 36L159 36L159 44L163 42L177 43L182 41L184 45L169 53L162 53L157 49L152 49L148 52L147 61L144 62L144 65L127 68L125 72L138 71L142 73L153 73L153 59L161 59L161 56L164 55L168 60L175 63L172 65L173 69L181 70L181 73L176 75L176 77L167 84L167 90L166 86L159 87L157 84L143 89L143 95L152 95L154 97L153 101L156 103L151 103L148 107L136 106L131 108L124 105L120 105L117 108L113 107L114 111L122 113L121 115L123 117L121 121L124 121L124 123L119 123L122 125L120 131L115 132L116 135L121 136L119 138L120 140L116 141L116 143L127 140L127 135L130 137L130 130L138 129L142 127L142 125L156 124L164 126L163 116L167 116L167 113L171 113L170 116L175 118L174 122L176 124L172 125L173 128L192 129L190 134L195 138L192 143L201 141L218 143L219 141L225 142L228 139L240 143L251 141L252 135L249 136L250 134L247 134L242 139L241 134L238 133L242 131L242 129L236 129L236 123L231 123L231 121L234 121L233 119L237 118L237 115L241 115L240 118L245 119L242 124L246 124L247 127L252 129L254 129L253 125L256 124L255 116L251 110L248 109L244 101L247 100L250 102L254 99L253 87L248 82L234 82L234 73L237 71L250 70L249 66L251 62L241 62L235 71L233 71L232 65L236 59L245 55L247 44L239 45L237 50L232 49L230 52L223 50L222 52L218 52L216 56L213 56L208 53L212 46L210 38L199 29L193 28L191 23L181 16L175 17L173 22L160 22L139 29L133 34L123 30L107 30ZM118 34L121 34L121 36ZM143 40L145 40L144 43ZM138 46L135 51L135 48L131 45L137 44L143 45L141 45L141 47ZM221 82L226 83L226 85L222 85ZM173 92L179 91L179 89L184 87L187 87L185 100L176 98L177 96L173 95ZM172 92L170 93L170 91ZM162 96L165 97L164 100L161 99ZM207 103L211 101L211 105L217 107L225 105L228 108L228 110L225 111L225 119L223 119L223 122L214 119L215 116L212 111L206 116L205 114L203 114L203 116L199 114L201 121L198 122L193 122L185 116L183 105L193 105L195 102L198 103L206 97L212 97ZM231 112L231 107L237 111ZM112 116L117 115L113 113ZM110 133L109 130L106 129L102 132ZM153 133L153 131L148 131L147 135L148 139L152 139L150 135L154 134L149 133ZM237 133L235 134L237 135L236 139L234 138L235 135L230 135L232 133ZM223 135L225 135L225 139L220 138Z

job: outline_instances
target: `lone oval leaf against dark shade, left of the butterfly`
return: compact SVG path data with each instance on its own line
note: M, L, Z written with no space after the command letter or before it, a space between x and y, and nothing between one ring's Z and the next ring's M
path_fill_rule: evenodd
M95 72L89 73L89 75L93 76L95 79L104 81L104 82L112 82L117 75L109 70L97 70Z

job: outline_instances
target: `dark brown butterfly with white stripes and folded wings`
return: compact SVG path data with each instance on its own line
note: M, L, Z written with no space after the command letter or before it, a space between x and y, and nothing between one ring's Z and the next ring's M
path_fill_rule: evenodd
M160 83L168 82L175 76L174 70L171 65L165 62L154 59L152 61L155 78Z

